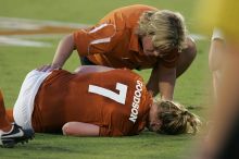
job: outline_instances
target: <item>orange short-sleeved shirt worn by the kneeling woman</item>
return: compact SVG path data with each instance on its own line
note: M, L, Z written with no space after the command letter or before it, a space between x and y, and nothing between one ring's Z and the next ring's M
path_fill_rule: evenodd
M111 68L147 69L158 61L167 68L176 65L178 52L163 58L143 54L136 35L139 17L146 11L156 10L148 5L130 5L116 9L104 16L96 26L74 33L79 56L98 64Z

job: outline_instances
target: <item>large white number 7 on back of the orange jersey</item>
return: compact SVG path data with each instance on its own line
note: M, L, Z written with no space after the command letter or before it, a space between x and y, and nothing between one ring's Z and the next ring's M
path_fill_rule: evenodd
M98 94L108 97L116 102L125 105L128 86L121 83L116 83L116 89L120 90L120 94L116 94L112 90L96 85L89 85L88 90L89 93Z

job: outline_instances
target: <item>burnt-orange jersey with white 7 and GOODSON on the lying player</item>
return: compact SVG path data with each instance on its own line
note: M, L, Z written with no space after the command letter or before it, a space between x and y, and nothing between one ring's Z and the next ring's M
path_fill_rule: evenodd
M138 134L152 99L142 78L129 70L72 74L59 70L45 80L32 118L36 132L61 132L66 122L100 126L100 136Z

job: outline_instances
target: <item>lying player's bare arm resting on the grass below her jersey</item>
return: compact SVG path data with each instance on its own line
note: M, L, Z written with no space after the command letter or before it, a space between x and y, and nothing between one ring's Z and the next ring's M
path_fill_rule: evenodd
M62 126L67 136L99 136L100 126L83 122L67 122Z

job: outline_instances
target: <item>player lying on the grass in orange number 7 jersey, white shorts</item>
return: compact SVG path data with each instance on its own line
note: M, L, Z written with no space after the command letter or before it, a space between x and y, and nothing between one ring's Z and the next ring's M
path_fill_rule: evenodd
M41 70L28 73L14 106L14 125L21 130L63 132L72 136L130 136L144 127L171 135L198 131L197 115L173 101L153 101L142 78L130 70L104 66L81 66L77 73ZM1 100L0 130L4 131L1 140L5 140L13 119L8 114L11 111L5 113L2 97ZM10 140L13 145L18 143L14 137Z

